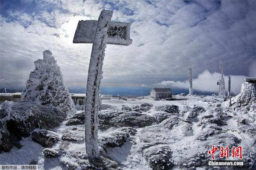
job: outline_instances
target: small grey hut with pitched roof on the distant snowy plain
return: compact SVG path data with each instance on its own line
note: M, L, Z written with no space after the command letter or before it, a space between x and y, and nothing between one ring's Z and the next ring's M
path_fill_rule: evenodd
M170 88L152 88L150 96L154 99L172 98L172 90Z

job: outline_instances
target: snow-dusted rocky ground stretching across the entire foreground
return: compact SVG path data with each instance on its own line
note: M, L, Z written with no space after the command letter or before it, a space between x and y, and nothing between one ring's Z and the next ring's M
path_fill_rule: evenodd
M189 105L148 96L105 100L112 109L99 113L100 157L94 160L85 151L84 111L67 115L55 107L4 102L1 128L9 133L1 133L0 159L55 170L254 170L256 103L246 85L231 106L212 96L187 96ZM213 144L229 147L230 155L233 146L242 146L244 166L208 166ZM220 158L219 151L215 159L239 160Z

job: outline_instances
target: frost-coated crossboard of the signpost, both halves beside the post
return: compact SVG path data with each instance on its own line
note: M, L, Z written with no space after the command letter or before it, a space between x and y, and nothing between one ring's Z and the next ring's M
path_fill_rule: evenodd
M73 43L93 43L94 34L97 28L96 20L79 21ZM110 22L108 24L107 44L130 45L131 23Z

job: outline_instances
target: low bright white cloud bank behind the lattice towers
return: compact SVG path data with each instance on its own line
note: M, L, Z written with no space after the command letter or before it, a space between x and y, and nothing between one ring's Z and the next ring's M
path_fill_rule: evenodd
M218 92L217 81L221 76L220 73L213 72L210 73L208 70L203 71L198 75L197 78L192 79L193 89L198 91L207 91L207 92ZM241 89L241 84L245 82L245 76L231 75L231 93L239 94ZM225 89L228 90L228 76L224 75L225 80ZM162 81L157 85L163 85L163 87L171 88L189 88L189 81Z

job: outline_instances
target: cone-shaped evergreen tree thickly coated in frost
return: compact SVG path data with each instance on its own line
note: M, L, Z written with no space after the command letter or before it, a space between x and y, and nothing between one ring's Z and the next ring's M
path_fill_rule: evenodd
M35 61L35 70L29 75L26 89L21 94L23 100L38 105L53 105L64 112L75 112L73 100L63 83L61 69L52 52L43 52L44 59Z

